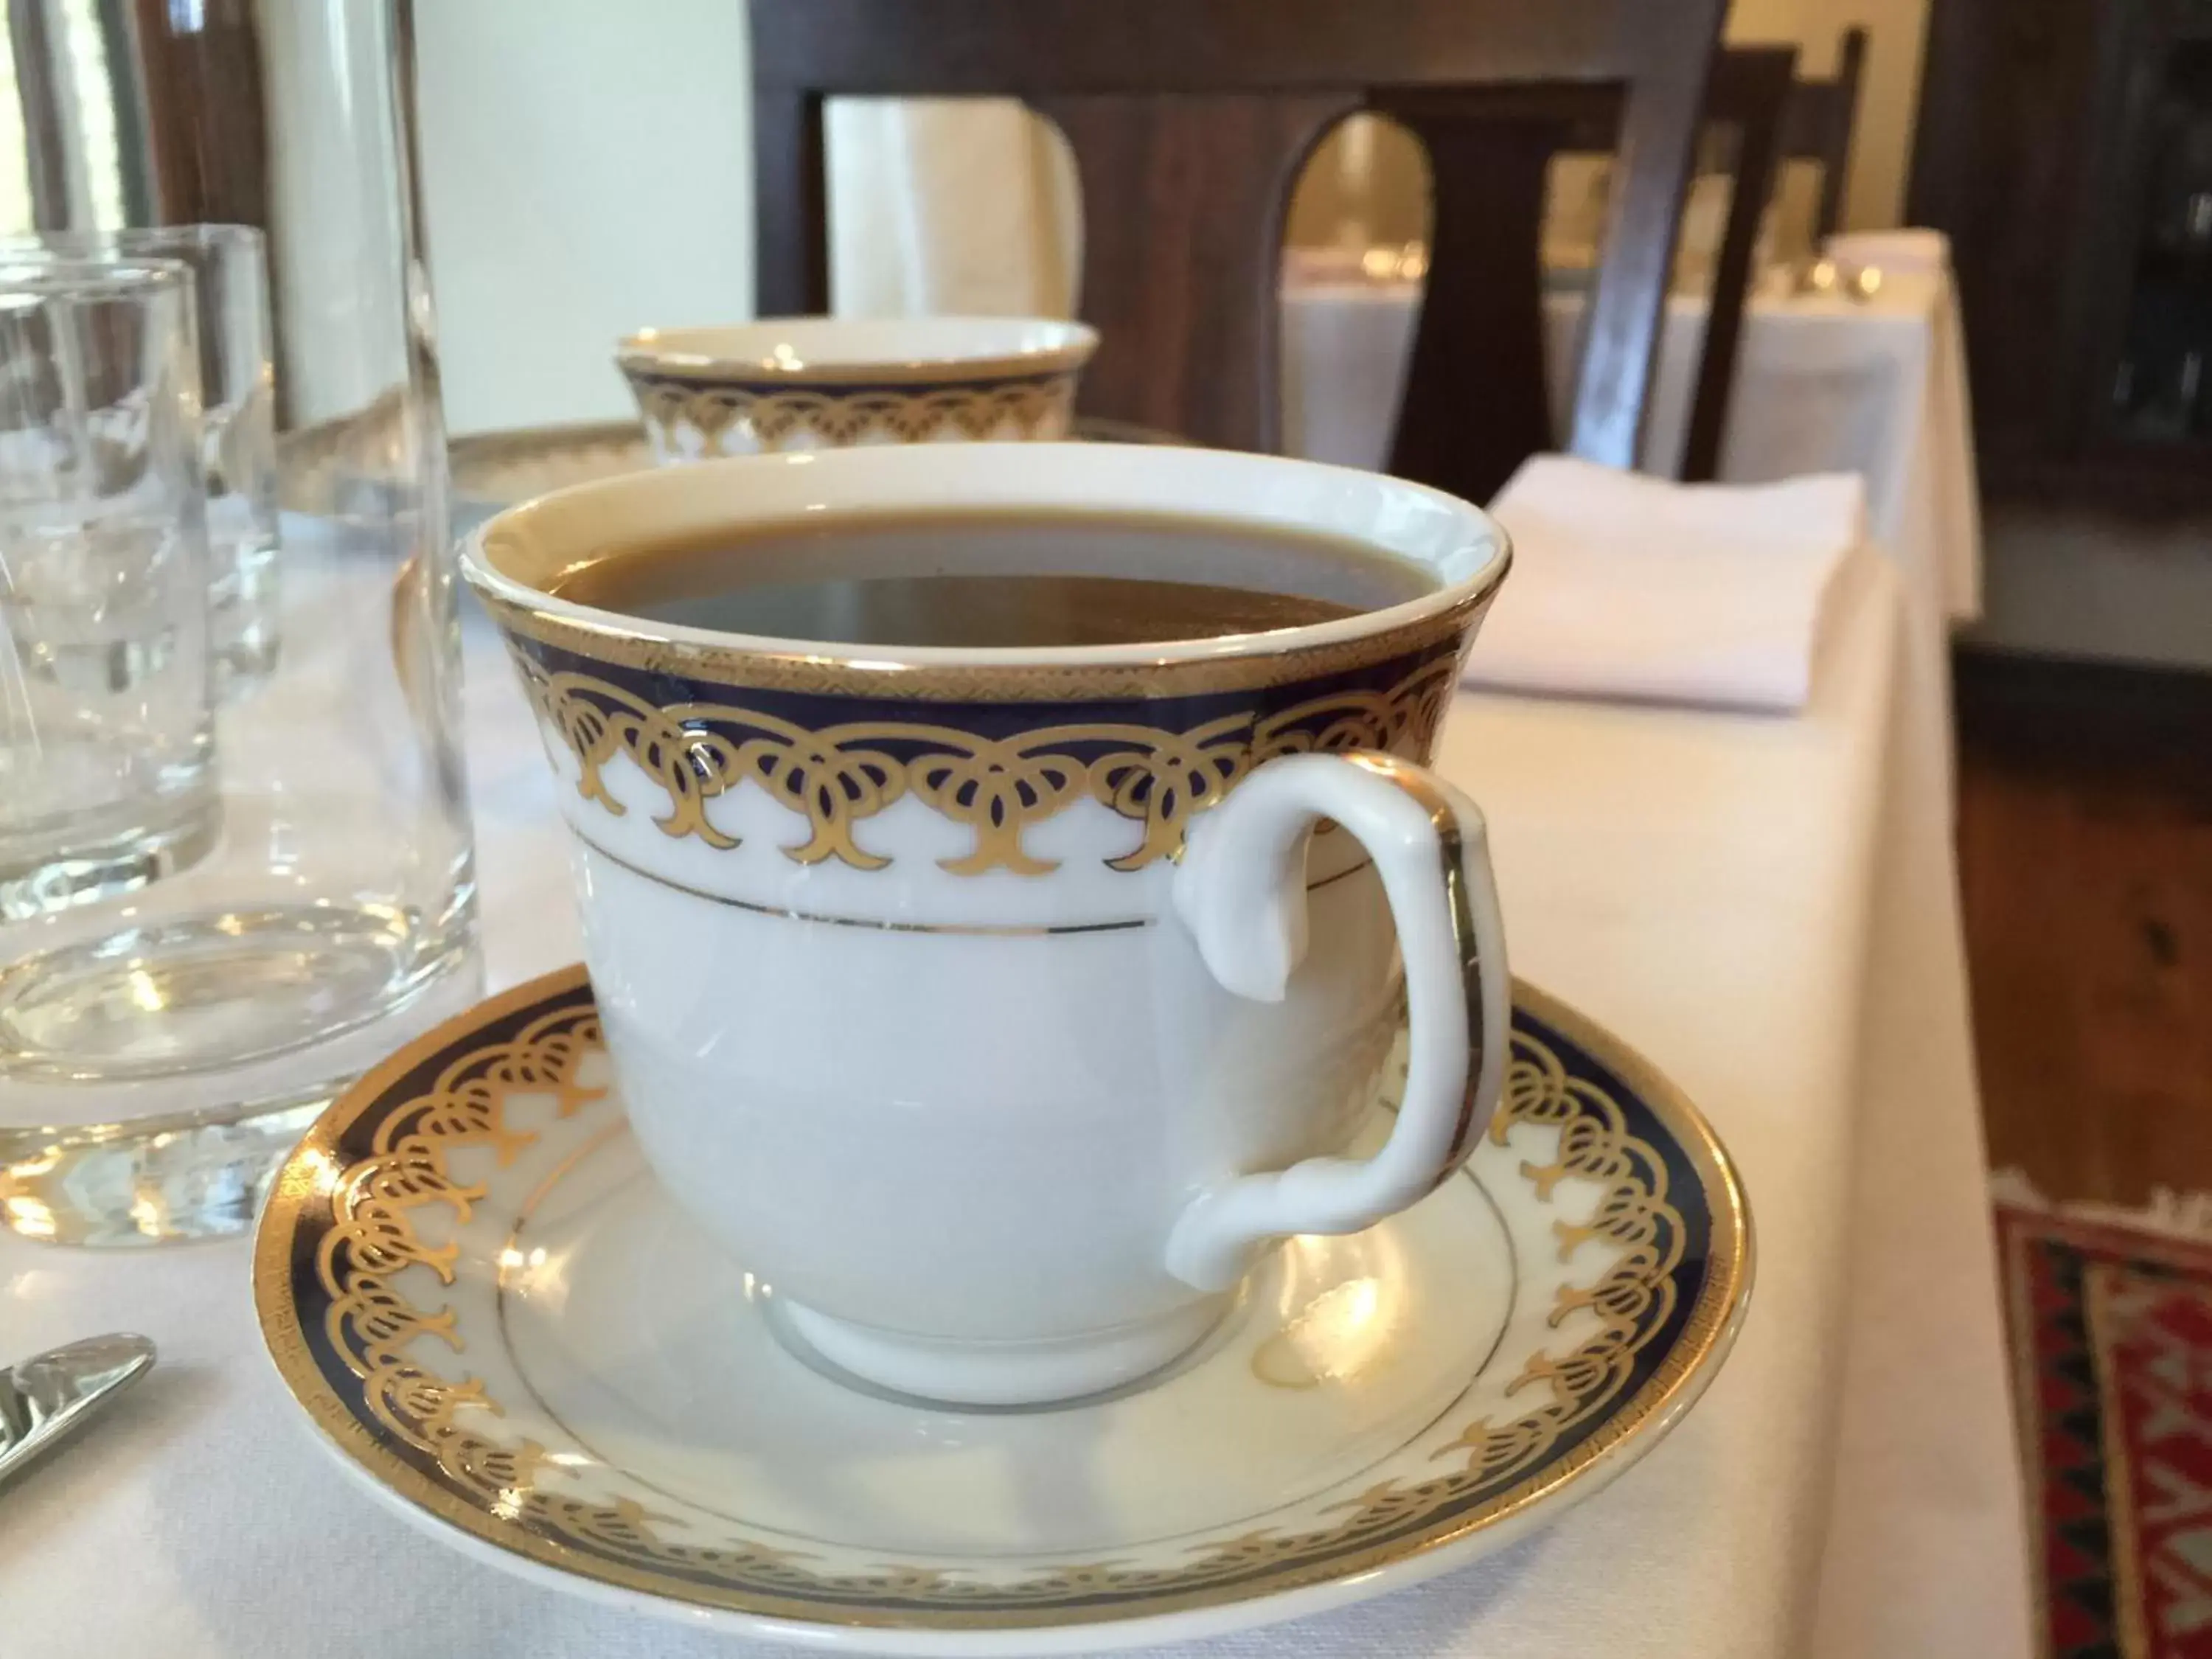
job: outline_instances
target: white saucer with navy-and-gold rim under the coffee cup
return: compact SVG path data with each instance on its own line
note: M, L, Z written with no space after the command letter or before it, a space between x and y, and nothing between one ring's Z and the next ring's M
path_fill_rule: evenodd
M1526 989L1513 1062L1464 1179L1292 1239L1168 1374L953 1411L834 1380L659 1197L568 969L321 1119L261 1223L261 1325L374 1493L557 1588L876 1652L1245 1628L1551 1522L1734 1338L1750 1228L1705 1124Z

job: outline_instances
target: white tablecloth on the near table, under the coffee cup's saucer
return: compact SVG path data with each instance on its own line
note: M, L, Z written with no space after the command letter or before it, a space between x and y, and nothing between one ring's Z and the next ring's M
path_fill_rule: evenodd
M1741 1159L1759 1287L1725 1374L1644 1467L1513 1551L1206 1652L2026 1655L1938 630L1900 628L1887 564L1865 577L1801 719L1464 697L1447 728L1444 770L1491 814L1515 969L1646 1048ZM471 626L500 987L573 960L577 931L495 655ZM378 1509L263 1358L243 1241L0 1234L0 1352L119 1327L159 1369L0 1493L0 1655L759 1652L529 1588Z

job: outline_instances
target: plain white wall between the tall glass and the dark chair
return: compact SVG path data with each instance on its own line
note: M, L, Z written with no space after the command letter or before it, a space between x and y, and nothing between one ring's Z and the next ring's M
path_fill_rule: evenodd
M617 336L752 314L739 0L422 0L453 431L630 411Z

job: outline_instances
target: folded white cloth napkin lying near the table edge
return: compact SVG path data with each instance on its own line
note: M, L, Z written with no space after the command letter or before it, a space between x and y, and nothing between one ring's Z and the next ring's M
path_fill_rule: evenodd
M1867 502L1854 473L1672 484L1537 456L1491 511L1513 538L1513 573L1467 684L1796 710Z

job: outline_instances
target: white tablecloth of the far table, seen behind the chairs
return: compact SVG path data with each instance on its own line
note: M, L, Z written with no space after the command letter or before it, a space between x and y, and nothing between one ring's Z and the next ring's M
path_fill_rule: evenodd
M1287 449L1380 467L1398 418L1420 296L1411 283L1312 283L1285 290ZM1582 299L1553 294L1553 407L1566 407ZM1705 301L1668 303L1646 453L1681 456ZM1469 387L1469 396L1482 396ZM1876 540L1942 615L1982 613L1982 509L1958 296L1942 270L1889 272L1871 301L1763 294L1736 358L1721 478L1763 484L1803 473L1867 478Z

